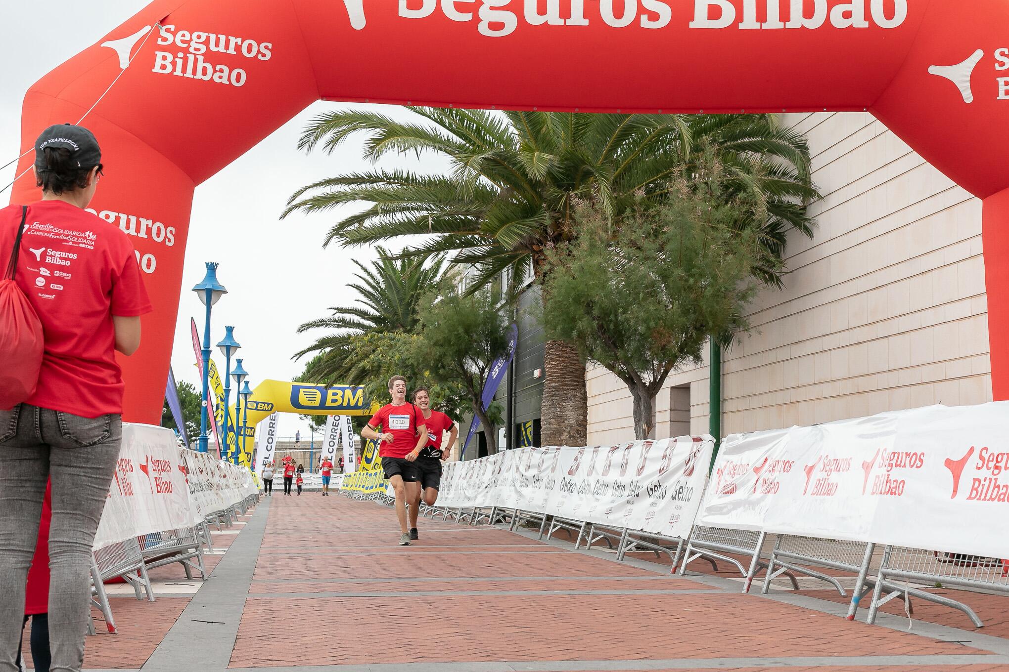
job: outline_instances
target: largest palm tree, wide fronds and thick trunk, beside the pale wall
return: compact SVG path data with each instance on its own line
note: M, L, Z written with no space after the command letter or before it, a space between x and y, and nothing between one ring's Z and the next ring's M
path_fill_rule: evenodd
M576 236L574 205L594 198L613 218L704 155L715 153L727 174L727 195L752 191L765 205L765 245L780 256L790 229L811 233L805 204L818 196L804 138L770 115L619 115L411 107L421 119L403 123L373 112L335 111L316 117L299 146L334 151L364 133L364 155L434 152L452 170L421 175L376 168L330 177L294 193L285 216L366 204L343 217L326 243L374 244L427 235L403 254L424 259L453 252L475 267L470 288L508 271L515 288L549 273L545 251ZM773 268L755 268L780 283ZM545 445L582 445L587 400L584 363L567 343L545 344L542 404Z

